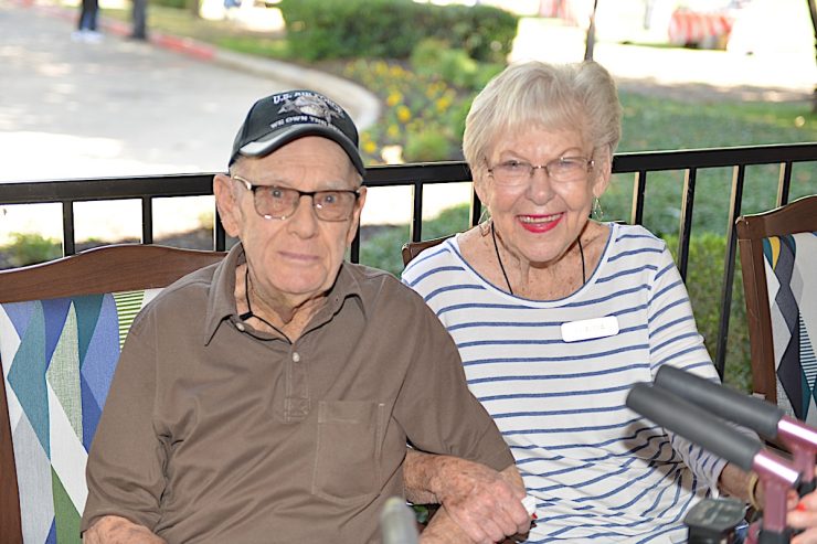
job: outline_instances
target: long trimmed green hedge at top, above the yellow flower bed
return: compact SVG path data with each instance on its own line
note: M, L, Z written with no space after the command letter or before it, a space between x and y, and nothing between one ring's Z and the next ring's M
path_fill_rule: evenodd
M307 61L408 58L425 38L450 40L477 60L501 62L518 18L488 6L412 0L282 0L290 51Z

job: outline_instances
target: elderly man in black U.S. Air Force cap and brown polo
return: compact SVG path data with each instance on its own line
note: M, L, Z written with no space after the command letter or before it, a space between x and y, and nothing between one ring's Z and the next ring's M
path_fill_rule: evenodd
M527 529L445 329L392 276L343 263L365 201L357 145L317 93L250 110L213 186L240 243L134 323L88 458L85 542L378 542L406 441L441 455L410 451L406 486L460 522L475 509L446 479L497 490L473 538ZM463 542L457 529L444 512L424 542Z

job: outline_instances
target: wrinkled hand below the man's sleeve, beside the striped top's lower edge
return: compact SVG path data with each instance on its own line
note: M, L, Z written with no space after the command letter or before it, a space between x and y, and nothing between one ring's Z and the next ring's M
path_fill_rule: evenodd
M502 472L456 457L442 457L432 489L445 511L477 543L501 542L527 533L522 479L514 466Z

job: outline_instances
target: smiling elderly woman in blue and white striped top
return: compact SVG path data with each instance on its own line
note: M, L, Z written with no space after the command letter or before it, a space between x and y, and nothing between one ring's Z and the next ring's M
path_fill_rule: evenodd
M529 542L683 542L702 497L755 492L756 478L625 406L664 364L718 374L665 243L588 220L619 137L601 65L510 66L474 100L463 145L490 220L403 274L537 499Z

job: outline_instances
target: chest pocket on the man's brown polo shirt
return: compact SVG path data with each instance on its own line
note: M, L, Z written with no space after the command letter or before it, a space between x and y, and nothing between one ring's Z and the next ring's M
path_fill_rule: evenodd
M385 417L382 403L318 403L314 494L348 503L368 500L380 492Z

